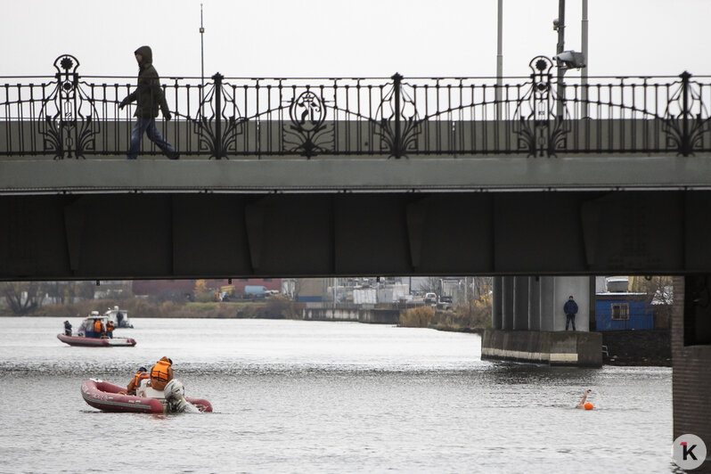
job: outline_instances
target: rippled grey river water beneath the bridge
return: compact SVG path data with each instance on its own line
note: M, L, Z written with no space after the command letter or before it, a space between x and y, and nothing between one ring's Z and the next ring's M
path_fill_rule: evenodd
M492 363L478 335L387 325L132 320L115 336L135 347L69 347L60 318L0 318L0 472L674 470L669 368ZM161 356L214 413L84 402L83 380Z

